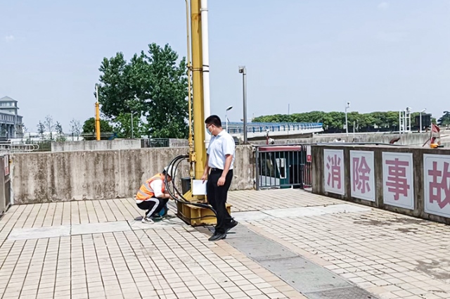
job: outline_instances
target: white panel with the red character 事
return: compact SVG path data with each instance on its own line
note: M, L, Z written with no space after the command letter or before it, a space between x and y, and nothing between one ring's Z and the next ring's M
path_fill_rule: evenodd
M383 153L383 202L414 209L413 154Z

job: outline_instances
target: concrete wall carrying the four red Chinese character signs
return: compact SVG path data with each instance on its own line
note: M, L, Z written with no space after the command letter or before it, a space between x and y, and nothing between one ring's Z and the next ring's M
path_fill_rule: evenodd
M312 146L311 154L313 193L450 224L450 150Z

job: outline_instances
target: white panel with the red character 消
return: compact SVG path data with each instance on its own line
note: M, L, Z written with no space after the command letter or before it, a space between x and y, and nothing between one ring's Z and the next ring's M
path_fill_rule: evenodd
M330 193L345 195L344 184L344 151L323 150L324 190Z

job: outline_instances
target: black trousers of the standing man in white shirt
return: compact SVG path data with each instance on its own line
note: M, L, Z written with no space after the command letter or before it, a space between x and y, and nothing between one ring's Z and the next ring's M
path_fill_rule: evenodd
M215 234L224 234L225 229L229 227L231 218L229 212L226 210L226 193L231 185L233 179L233 170L229 170L226 174L225 184L217 186L217 181L222 175L222 170L211 170L208 182L206 185L208 203L217 212L217 225L215 227Z

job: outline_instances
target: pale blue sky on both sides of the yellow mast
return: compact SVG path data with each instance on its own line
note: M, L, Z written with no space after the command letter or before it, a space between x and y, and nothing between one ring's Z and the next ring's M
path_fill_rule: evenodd
M449 110L449 0L209 1L211 112L242 118L309 110ZM29 131L52 115L94 116L103 57L151 42L186 56L182 0L0 1L0 97Z

